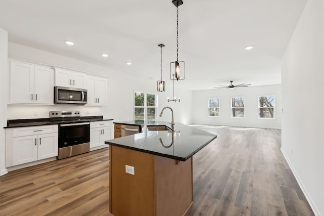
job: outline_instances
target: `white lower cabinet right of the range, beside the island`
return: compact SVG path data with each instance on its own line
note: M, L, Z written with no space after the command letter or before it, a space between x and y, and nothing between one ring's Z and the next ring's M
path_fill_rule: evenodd
M90 149L105 146L106 140L112 139L112 121L90 122Z

